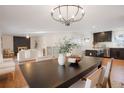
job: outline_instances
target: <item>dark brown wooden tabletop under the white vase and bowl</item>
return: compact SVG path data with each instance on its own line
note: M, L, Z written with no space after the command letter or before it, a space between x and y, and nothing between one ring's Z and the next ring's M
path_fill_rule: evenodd
M101 58L84 57L78 64L58 64L57 59L20 65L31 88L66 88L101 65Z

